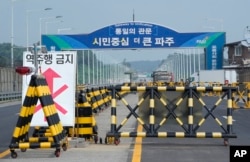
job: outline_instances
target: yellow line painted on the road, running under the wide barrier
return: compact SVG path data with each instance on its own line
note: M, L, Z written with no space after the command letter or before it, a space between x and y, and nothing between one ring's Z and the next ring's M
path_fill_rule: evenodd
M141 132L141 131L142 131L142 126L138 125L137 132ZM142 150L141 144L142 144L142 137L136 137L132 162L141 161L141 150Z

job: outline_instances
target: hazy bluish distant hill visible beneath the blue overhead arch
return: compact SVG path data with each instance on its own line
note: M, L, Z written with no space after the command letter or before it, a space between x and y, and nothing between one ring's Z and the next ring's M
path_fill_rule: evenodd
M152 71L156 70L161 61L132 61L129 62L131 65L131 68L134 69L135 71L139 73L144 73L144 72L149 72L151 73Z

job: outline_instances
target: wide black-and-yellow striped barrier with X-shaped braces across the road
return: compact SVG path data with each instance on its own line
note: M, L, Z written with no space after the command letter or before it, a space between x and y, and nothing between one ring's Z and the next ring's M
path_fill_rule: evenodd
M189 86L115 86L110 87L109 90L111 91L111 127L110 132L106 134L105 142L110 143L114 142L115 144L119 143L120 137L176 137L176 138L223 138L224 144L228 144L229 138L236 138L236 134L232 130L233 125L233 117L232 117L232 94L236 92L236 87L229 87L229 86L210 86L210 87L189 87ZM141 98L139 98L138 103L136 106L132 107L122 96L119 96L120 91L138 91L143 92ZM165 99L162 97L161 92L180 92L182 95L178 99L173 99L171 101L166 102ZM212 107L206 105L205 101L200 97L202 96L201 93L203 92L220 92L221 96L215 102ZM119 96L124 103L124 105L128 108L129 114L125 117L124 120L118 125L117 123L117 114L116 114L116 96ZM178 114L175 112L176 109L181 105L184 99L187 98L187 104L184 104L184 109L187 111L186 118L187 122L184 122ZM219 106L219 104L224 100L227 100L227 123L223 125L219 118L216 117L214 114L214 110ZM137 109L142 105L145 100L149 99L149 105L147 107L143 107L142 109L149 109L147 111L149 122L146 122L140 115L137 113ZM168 98L169 99L169 98ZM205 109L205 114L201 113L202 117L198 118L197 121L194 120L194 99L198 102L202 108ZM166 110L168 110L159 123L156 123L156 109L155 103L156 100L159 101ZM141 108L141 107L140 107ZM203 111L203 110L202 110ZM129 118L133 116L139 125L144 128L143 132L121 132L121 128L126 124ZM164 125L167 124L169 118L172 117L177 125L179 125L183 131L167 131L162 132L159 129ZM221 132L217 130L214 132L207 132L207 131L199 131L199 128L204 124L205 120L208 117L212 117L213 120L221 128ZM114 140L113 140L114 139Z

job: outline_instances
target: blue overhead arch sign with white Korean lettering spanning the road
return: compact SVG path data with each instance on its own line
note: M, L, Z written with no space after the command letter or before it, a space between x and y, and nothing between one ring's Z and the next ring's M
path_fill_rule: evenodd
M152 23L125 22L110 25L89 34L42 35L42 43L47 49L54 50L201 47L209 52L206 57L206 68L219 69L222 67L225 33L179 33ZM214 64L212 64L212 57L216 57Z

